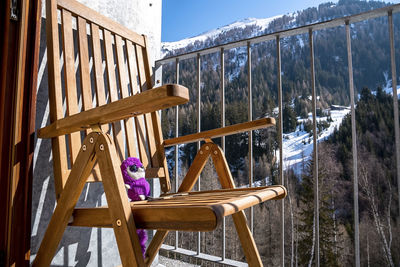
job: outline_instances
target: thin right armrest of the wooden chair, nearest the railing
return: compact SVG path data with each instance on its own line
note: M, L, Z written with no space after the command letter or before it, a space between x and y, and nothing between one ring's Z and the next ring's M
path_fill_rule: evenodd
M262 118L259 120L238 123L238 124L226 126L223 128L214 129L214 130L204 131L204 132L195 133L195 134L188 134L188 135L179 136L176 138L167 139L167 140L164 140L164 147L193 143L193 142L201 141L204 139L217 138L217 137L221 137L221 136L266 128L266 127L270 127L270 126L274 126L274 125L275 125L274 118Z

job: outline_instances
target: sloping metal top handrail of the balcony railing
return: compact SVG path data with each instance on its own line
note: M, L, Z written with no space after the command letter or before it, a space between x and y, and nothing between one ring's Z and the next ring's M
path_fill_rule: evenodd
M265 41L271 41L271 40L275 40L277 36L279 36L280 38L284 38L284 37L289 37L289 36L293 36L293 35L305 34L305 33L308 33L309 29L312 29L313 31L317 31L317 30L323 30L323 29L328 29L328 28L334 28L334 27L338 27L338 26L344 26L346 21L349 21L349 23L352 24L352 23L357 23L357 22L363 21L363 20L387 16L389 11L392 11L392 13L400 12L400 4L386 6L386 7L382 7L379 9L374 9L374 10L366 11L363 13L359 13L356 15L350 15L350 16L345 16L345 17L327 20L327 21L323 21L323 22L318 22L318 23L314 23L314 24L308 24L308 25L296 27L293 29L287 29L287 30L273 32L273 33L268 33L268 34L264 34L264 35L260 35L260 36L256 36L256 37L252 37L252 38L247 38L247 39L243 39L243 40L239 40L239 41L234 41L234 42L230 42L230 43L226 43L226 44L222 44L222 45L217 45L217 46L213 46L213 47L209 47L209 48L196 50L193 52L184 53L184 54L177 55L177 56L171 56L171 57L157 60L156 64L162 65L162 64L166 64L166 63L170 63L170 62L175 62L175 60L177 58L179 58L179 60L190 59L190 58L196 57L197 54L207 55L207 54L217 53L221 50L221 48L224 48L226 50L226 49L232 49L232 48L237 48L237 47L241 47L241 46L247 46L248 43L257 44L257 43L261 43L261 42L265 42Z

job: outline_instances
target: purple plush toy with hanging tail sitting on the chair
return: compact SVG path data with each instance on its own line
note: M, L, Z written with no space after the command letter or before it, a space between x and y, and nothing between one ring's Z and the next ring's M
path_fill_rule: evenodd
M121 164L122 176L128 188L128 197L131 201L145 200L150 195L150 185L146 181L145 170L138 158L127 158ZM142 247L143 257L146 252L147 232L143 229L136 230Z

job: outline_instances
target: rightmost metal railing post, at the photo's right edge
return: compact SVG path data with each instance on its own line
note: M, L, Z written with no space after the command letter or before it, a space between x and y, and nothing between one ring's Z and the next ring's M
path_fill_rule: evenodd
M394 134L396 144L396 169L397 169L397 190L400 196L400 130L399 130L399 104L397 96L397 74L396 74L396 56L394 51L394 33L393 33L393 14L388 12L389 19L389 38L390 38L390 63L392 67L392 89L393 89L393 118ZM399 197L399 216L400 216L400 197Z

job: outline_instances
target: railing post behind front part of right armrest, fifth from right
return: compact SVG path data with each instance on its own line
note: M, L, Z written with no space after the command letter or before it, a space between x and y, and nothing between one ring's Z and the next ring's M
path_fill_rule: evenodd
M248 119L253 120L253 96L251 85L251 46L247 42L247 86L248 86ZM248 132L249 135L249 187L253 186L253 131ZM250 230L253 233L254 228L254 207L250 207Z

